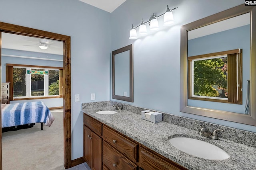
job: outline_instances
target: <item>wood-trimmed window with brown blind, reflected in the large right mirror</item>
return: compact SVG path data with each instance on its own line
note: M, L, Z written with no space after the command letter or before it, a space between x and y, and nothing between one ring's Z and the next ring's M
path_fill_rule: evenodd
M242 49L188 57L188 99L242 104Z

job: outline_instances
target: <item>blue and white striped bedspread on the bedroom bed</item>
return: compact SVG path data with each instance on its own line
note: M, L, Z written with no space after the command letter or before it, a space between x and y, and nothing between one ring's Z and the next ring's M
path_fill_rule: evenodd
M2 104L2 127L45 123L51 126L54 117L44 102Z

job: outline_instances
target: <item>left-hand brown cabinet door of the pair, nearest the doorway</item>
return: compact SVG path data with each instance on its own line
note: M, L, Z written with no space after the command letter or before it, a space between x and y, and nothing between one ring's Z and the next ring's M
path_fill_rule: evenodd
M91 130L84 125L84 160L88 166L92 167L92 142Z

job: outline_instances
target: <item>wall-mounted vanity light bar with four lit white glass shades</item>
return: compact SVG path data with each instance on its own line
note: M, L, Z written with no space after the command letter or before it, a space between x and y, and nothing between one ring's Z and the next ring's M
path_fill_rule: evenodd
M164 16L164 26L172 25L172 23L174 23L172 11L176 10L177 8L178 7L170 10L169 6L167 5L167 10L164 14L161 14L160 16L155 16L155 14L153 13L148 21L144 22L142 19L141 24L136 27L134 27L132 24L132 29L130 30L129 39L137 39L138 38L137 31L136 31L136 28L138 28L138 27L139 27L139 35L146 35L147 34L146 23L148 23L150 25L150 31L157 31L159 29L157 19L162 16Z

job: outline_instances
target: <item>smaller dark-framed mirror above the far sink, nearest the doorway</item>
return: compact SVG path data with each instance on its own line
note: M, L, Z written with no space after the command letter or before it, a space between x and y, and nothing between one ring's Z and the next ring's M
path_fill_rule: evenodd
M132 44L112 51L112 98L133 102Z

